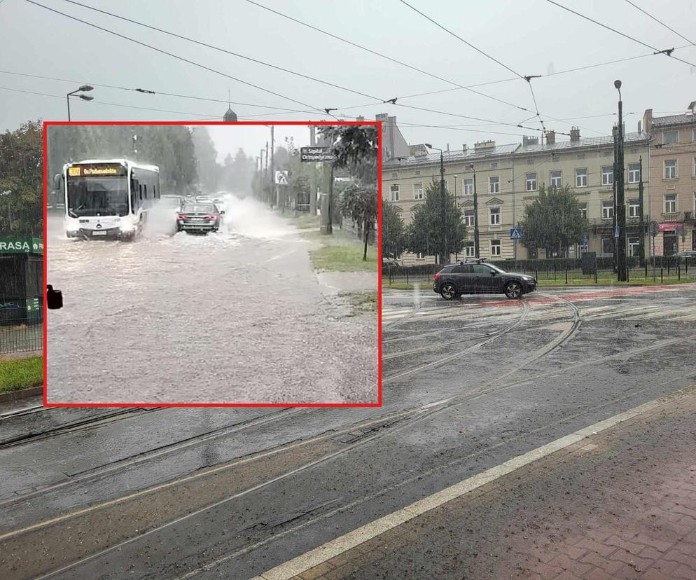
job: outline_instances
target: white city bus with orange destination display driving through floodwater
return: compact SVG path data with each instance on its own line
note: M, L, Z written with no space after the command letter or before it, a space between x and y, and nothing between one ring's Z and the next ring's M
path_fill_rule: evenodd
M90 159L66 163L54 184L65 200L68 237L133 240L160 199L160 168Z

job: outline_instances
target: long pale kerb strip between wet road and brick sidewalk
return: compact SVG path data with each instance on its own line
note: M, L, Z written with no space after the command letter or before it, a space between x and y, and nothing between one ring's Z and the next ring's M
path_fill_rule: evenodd
M417 518L418 516L436 509L447 502L451 502L453 499L458 499L459 497L466 495L468 492L482 487L482 485L491 483L496 479L520 469L521 467L569 447L573 445L573 443L578 443L578 441L582 441L587 437L596 435L601 431L611 429L611 427L615 427L617 424L632 419L637 415L648 413L648 411L661 406L665 401L672 397L674 397L674 393L664 396L661 399L655 399L655 401L650 401L649 403L637 406L631 410L627 410L625 413L614 415L613 417L610 417L604 421L592 424L589 427L585 427L584 429L580 429L573 434L556 439L551 443L547 443L546 445L524 453L523 455L513 457L513 459L496 467L492 467L491 469L487 469L480 474L466 478L464 481L455 483L449 488L445 488L440 492L433 493L433 495L420 499L419 501L412 503L403 509L398 509L392 513L389 513L387 516L378 518L377 520L363 525L352 532L348 532L347 534L337 537L336 539L328 541L326 544L323 544L318 548L314 548L314 550L310 550L302 555L299 555L297 558L293 558L292 560L288 560L279 566L267 570L267 572L263 572L263 574L255 576L251 580L289 580L294 576L298 576L298 574L307 572L307 570L323 564L323 562L327 562L331 558L335 558L337 555L341 555L342 553L345 553L352 548L355 548L356 546L359 546L360 544L379 536L380 534L384 534L384 532L393 530L395 527L398 527L409 520Z

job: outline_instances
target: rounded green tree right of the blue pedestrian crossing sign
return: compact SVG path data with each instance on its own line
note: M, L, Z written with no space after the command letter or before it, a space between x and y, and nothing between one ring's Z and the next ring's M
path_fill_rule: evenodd
M547 256L565 256L569 246L581 242L590 224L569 186L541 185L539 197L524 208L520 226L524 247L544 248Z

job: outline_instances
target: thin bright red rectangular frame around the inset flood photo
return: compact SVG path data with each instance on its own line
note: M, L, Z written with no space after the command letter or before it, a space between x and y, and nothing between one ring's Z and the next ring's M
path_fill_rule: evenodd
M48 402L48 127L58 125L374 125L377 127L377 402L376 403L49 403ZM43 122L43 406L45 407L381 407L382 406L382 123L380 121L44 121Z

